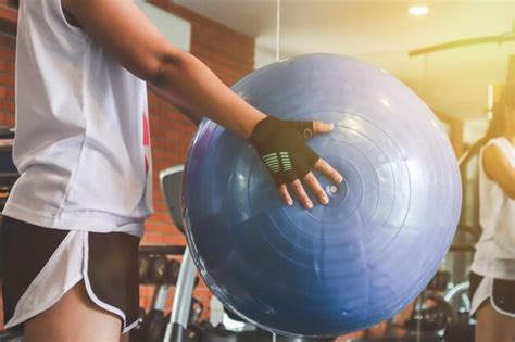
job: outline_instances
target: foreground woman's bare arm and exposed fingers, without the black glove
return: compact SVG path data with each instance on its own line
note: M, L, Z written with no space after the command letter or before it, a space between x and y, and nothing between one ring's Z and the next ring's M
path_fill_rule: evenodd
M266 118L264 113L226 87L201 61L166 41L133 0L62 0L62 4L114 60L190 117L205 115L243 138L249 138L258 123ZM323 123L313 125L315 134L331 129ZM298 148L299 151L307 149L305 142ZM299 154L299 157L303 155ZM336 182L342 179L322 159L314 167ZM302 179L322 203L328 202L313 173L309 172ZM292 180L291 187L305 207L313 205L299 179ZM291 204L286 183L278 183L278 189L282 200Z

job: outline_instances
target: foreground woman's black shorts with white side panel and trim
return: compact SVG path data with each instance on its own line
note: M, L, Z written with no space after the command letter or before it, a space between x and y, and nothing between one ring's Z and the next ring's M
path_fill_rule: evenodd
M4 217L0 241L7 329L50 308L80 280L96 305L121 318L122 333L138 324L138 238L49 229Z

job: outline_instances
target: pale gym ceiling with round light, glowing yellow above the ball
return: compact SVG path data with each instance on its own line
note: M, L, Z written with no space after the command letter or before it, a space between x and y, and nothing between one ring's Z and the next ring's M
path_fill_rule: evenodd
M256 67L275 60L276 1L173 0L254 37ZM415 17L412 4L429 14ZM435 110L485 115L489 84L505 80L515 43L481 45L407 56L407 51L450 40L511 33L515 1L281 0L280 56L329 52L372 62L412 87Z

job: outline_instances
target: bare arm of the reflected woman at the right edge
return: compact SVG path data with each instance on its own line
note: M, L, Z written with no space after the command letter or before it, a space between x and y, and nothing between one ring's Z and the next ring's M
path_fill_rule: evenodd
M513 166L503 150L494 144L482 152L482 167L508 198L515 200L515 166Z

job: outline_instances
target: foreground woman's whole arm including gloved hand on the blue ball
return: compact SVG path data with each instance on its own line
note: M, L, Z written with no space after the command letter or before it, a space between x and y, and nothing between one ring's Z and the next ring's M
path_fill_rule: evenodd
M342 178L306 145L305 138L328 132L331 125L267 117L227 88L200 60L172 46L134 1L62 0L62 4L113 60L194 122L208 116L242 138L250 137L262 157L277 153L278 169L273 154L266 159L285 203L293 203L289 185L304 207L313 206L301 179L322 203L328 203L312 169L337 182Z

